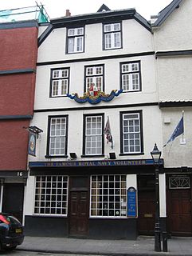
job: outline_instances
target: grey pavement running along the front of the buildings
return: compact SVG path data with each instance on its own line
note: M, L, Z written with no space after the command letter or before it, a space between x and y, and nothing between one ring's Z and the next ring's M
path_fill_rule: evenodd
M136 240L93 240L79 238L48 238L25 236L24 242L22 245L17 247L17 250L52 254L91 254L112 256L192 256L191 237L172 237L168 239L167 252L155 252L154 244L154 237L143 236L138 237Z

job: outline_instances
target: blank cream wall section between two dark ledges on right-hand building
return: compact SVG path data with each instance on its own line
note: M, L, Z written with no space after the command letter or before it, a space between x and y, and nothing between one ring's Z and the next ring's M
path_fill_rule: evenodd
M157 59L160 102L192 100L191 65L191 55Z

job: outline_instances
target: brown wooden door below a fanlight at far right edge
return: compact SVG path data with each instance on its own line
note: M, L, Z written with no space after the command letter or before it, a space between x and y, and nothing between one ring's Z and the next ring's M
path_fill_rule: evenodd
M168 191L168 231L172 235L192 235L191 191L174 189Z

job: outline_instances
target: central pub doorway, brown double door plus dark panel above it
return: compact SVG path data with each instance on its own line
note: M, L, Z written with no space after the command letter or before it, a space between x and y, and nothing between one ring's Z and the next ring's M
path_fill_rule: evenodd
M88 235L88 178L71 178L69 195L69 236Z

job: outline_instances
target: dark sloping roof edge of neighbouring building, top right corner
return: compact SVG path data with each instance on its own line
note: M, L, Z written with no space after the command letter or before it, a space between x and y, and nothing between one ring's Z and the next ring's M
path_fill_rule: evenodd
M157 16L157 20L154 24L151 24L151 26L161 26L165 20L172 14L172 12L178 8L179 4L182 2L182 0L173 0L170 2L170 4L165 7L163 10L161 10Z

